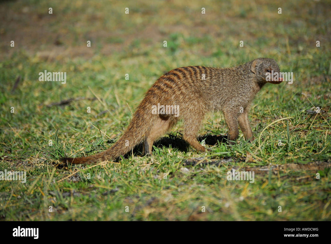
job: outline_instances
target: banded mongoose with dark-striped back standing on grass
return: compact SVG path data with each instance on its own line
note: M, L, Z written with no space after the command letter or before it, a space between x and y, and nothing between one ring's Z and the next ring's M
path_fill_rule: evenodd
M188 66L170 70L148 89L126 131L113 146L96 155L62 158L61 161L90 164L116 160L141 142L144 142L144 153L151 155L153 142L180 119L184 124L183 139L203 152L206 148L197 141L197 133L205 115L219 110L224 114L230 143L238 138L238 125L246 140L252 142L248 120L250 104L265 83L282 82L282 77L278 76L266 79L272 70L279 73L276 61L269 58L230 68ZM168 111L165 112L162 105L168 105ZM178 108L177 111L174 108Z

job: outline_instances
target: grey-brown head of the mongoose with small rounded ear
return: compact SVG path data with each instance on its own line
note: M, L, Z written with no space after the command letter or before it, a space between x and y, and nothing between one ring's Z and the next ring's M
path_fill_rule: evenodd
M274 59L259 58L252 61L252 72L256 75L258 82L265 84L279 84L283 81L279 73L279 67Z

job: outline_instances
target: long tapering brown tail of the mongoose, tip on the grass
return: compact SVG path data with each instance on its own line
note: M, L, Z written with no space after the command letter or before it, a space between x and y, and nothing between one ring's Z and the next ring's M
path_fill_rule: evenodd
M149 127L153 124L152 114L148 114L145 107L145 101L143 100L133 118L128 125L126 131L118 139L118 141L105 151L98 154L91 155L88 157L80 158L60 158L62 163L69 164L92 164L100 161L112 161L116 160L119 156L125 155L129 152L135 145L139 144L144 140L144 135L148 132Z

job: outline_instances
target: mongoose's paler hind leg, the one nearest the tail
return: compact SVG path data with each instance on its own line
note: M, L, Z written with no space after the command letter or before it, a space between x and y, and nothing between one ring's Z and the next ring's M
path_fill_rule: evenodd
M170 130L174 124L176 123L176 119L171 116L162 116L159 115L158 120L153 125L148 135L145 137L144 142L144 154L152 155L153 143L156 139L163 136L168 130Z

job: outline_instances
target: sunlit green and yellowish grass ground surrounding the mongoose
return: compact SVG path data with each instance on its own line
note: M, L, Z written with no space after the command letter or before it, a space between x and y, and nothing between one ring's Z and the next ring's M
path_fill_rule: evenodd
M0 171L26 171L26 183L0 181L0 220L331 219L330 1L0 5ZM183 144L179 123L151 157L137 147L118 162L58 165L64 154L95 154L116 142L129 107L166 71L257 57L274 58L295 77L257 95L253 143L240 133L233 147L219 142L198 153ZM67 83L40 82L44 70L67 72ZM70 98L77 100L47 106ZM309 113L314 106L320 114ZM200 139L226 133L223 115L210 114ZM232 160L184 164L197 157ZM227 181L231 169L254 171L255 182Z

